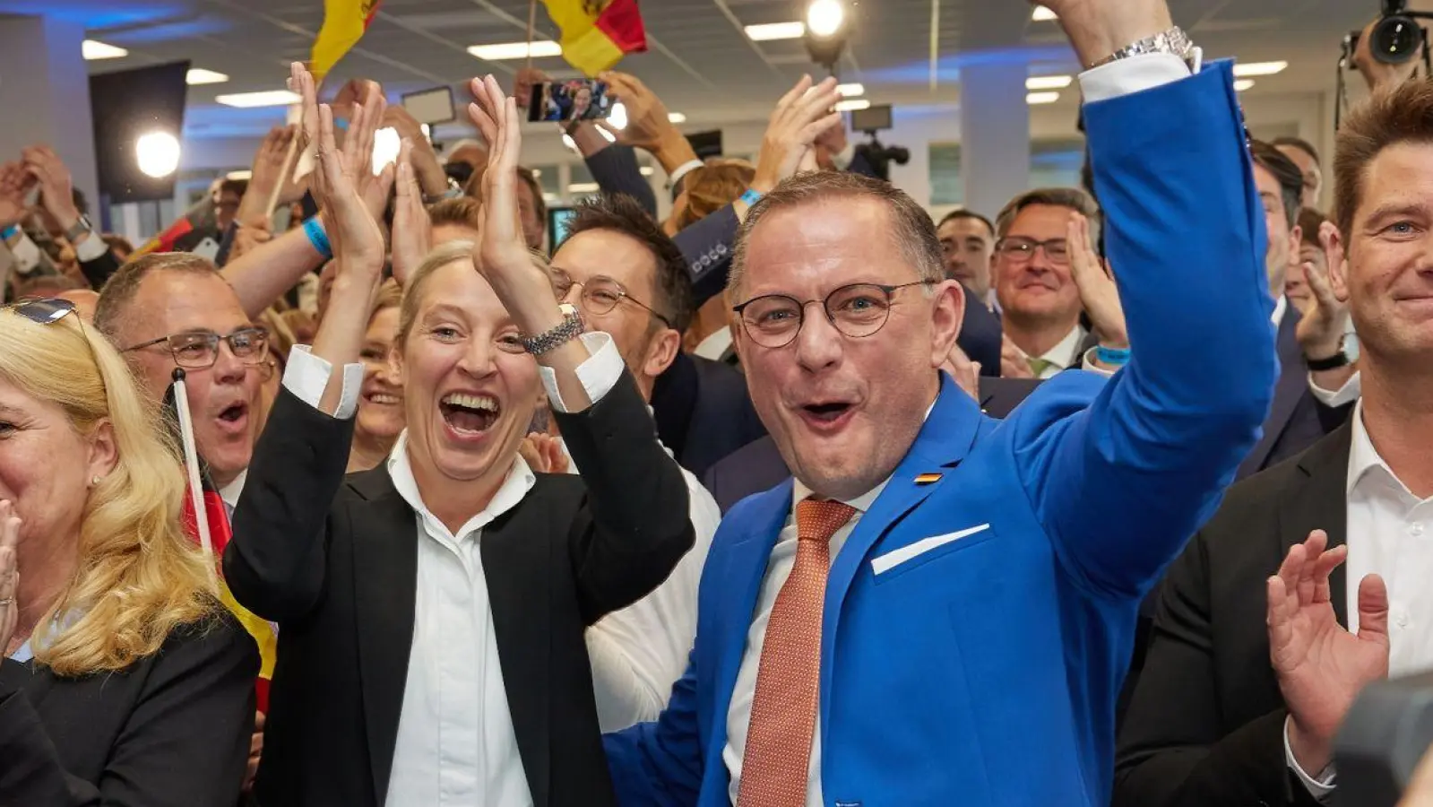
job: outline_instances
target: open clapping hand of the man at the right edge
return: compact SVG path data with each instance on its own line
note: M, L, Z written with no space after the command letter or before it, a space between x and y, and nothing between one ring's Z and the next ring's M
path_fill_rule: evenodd
M1348 558L1323 530L1290 548L1268 579L1270 659L1288 704L1294 758L1318 775L1333 758L1333 738L1369 684L1389 677L1389 592L1379 575L1358 582L1358 634L1334 615L1328 575Z

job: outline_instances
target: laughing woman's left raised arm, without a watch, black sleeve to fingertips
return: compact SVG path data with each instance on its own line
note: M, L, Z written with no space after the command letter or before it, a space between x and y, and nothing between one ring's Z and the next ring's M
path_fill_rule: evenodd
M383 281L383 231L358 195L371 143L350 136L334 145L332 110L315 102L314 80L294 66L304 95L307 138L320 142L314 195L331 234L338 275L311 353L295 348L284 391L254 449L248 482L234 513L224 573L235 598L267 619L301 616L324 585L328 513L342 484L353 416L363 381L358 351L368 307ZM354 126L383 115L373 92L354 106Z

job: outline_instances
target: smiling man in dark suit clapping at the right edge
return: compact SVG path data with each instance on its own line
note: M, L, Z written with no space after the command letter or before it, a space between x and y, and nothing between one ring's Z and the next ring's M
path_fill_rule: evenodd
M1364 396L1297 460L1235 484L1171 568L1119 734L1116 807L1327 803L1358 691L1433 667L1429 120L1433 83L1417 80L1340 130L1328 271Z

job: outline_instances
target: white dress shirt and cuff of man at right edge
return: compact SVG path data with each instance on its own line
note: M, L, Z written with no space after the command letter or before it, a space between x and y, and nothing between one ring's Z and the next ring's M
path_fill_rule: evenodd
M1419 499L1399 480L1369 439L1363 403L1353 413L1348 449L1348 506L1346 562L1348 631L1358 631L1358 582L1379 575L1389 586L1389 677L1433 668L1433 497ZM1288 745L1284 754L1304 787L1326 801L1334 790L1334 771L1311 777Z

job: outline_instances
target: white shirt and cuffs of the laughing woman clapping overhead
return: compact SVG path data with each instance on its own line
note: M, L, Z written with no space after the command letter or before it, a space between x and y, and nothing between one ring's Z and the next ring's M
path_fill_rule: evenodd
M620 378L622 355L608 334L583 334L582 341L592 357L577 367L577 378L598 403ZM354 370L358 384L350 387ZM556 374L547 367L539 370L552 407L566 411ZM317 407L330 371L328 361L295 348L284 386ZM363 364L344 366L338 417L353 417L361 380ZM483 527L516 507L536 476L522 457L514 457L487 507L453 533L424 505L406 449L407 431L398 436L387 462L394 487L414 510L418 573L413 648L385 804L530 807L479 542Z

